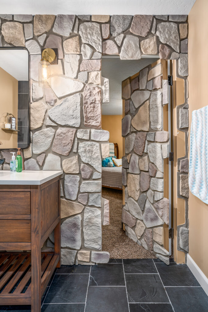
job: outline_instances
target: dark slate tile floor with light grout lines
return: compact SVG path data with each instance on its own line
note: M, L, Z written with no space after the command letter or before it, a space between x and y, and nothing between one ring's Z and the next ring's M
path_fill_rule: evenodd
M61 266L42 297L41 312L207 312L208 297L185 265L158 259L110 259ZM0 306L0 312L30 306Z

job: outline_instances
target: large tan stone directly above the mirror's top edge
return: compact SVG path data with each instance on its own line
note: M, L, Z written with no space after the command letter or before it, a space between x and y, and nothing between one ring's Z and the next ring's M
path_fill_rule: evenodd
M7 43L14 46L25 46L23 26L17 22L6 22L2 24L2 35Z

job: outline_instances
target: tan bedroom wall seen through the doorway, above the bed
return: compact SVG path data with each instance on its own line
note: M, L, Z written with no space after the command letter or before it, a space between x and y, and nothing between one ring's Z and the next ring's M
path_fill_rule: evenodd
M121 135L122 115L102 115L102 129L110 133L109 142L118 143L119 158L123 156L123 138Z

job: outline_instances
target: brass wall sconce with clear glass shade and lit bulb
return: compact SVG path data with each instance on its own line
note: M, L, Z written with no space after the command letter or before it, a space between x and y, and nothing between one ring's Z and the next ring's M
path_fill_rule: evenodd
M46 48L41 50L42 58L38 64L39 86L51 87L51 65L58 64L58 49Z

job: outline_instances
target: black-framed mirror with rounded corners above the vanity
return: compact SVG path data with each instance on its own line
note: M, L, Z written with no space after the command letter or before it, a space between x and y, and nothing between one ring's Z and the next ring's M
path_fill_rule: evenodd
M0 149L30 144L29 53L24 47L0 48Z

